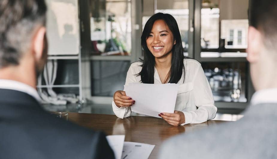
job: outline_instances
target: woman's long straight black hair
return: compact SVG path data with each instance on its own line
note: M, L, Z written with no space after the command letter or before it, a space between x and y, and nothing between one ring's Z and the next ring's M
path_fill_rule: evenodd
M169 27L170 31L173 34L174 40L176 41L176 44L173 45L172 47L172 59L171 59L171 67L169 71L170 79L168 83L177 83L181 79L183 72L185 77L183 59L187 57L184 57L184 54L183 54L181 35L180 35L177 22L174 19L174 17L170 14L156 13L153 16L151 16L146 22L141 35L141 46L144 51L144 58L143 60L141 60L143 64L141 65L142 69L140 73L137 74L137 76L140 75L141 81L143 83L151 83L151 84L154 83L155 57L149 51L146 44L146 39L149 36L152 30L153 24L156 20L164 20L164 22L166 22L167 26Z

